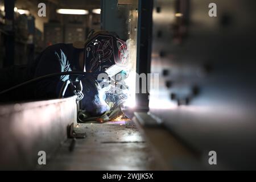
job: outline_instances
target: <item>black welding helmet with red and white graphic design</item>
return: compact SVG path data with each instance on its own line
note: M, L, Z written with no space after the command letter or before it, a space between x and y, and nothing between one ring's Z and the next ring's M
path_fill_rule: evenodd
M128 64L129 51L124 40L107 31L90 32L85 43L86 72L106 72L114 76Z

